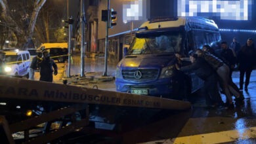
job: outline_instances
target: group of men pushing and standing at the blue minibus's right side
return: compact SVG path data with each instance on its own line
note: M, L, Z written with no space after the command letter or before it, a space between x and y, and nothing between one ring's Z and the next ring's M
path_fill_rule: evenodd
M188 61L179 53L175 55L179 62ZM208 107L232 108L234 107L232 96L235 97L236 104L244 100L242 90L248 90L251 71L256 64L256 49L253 39L247 39L247 43L242 47L236 38L233 39L229 47L223 41L220 54L216 54L211 46L204 45L202 49L190 52L189 55L192 65L182 67L181 63L177 63L175 66L179 71L194 71L204 81L202 92ZM236 65L240 71L240 88L232 81L232 71ZM245 85L244 75L246 75ZM222 101L219 89L225 94L226 103Z

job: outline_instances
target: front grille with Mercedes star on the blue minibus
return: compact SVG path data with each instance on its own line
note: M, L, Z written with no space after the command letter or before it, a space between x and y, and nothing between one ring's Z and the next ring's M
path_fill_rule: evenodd
M150 81L158 77L158 69L123 69L122 75L125 80Z

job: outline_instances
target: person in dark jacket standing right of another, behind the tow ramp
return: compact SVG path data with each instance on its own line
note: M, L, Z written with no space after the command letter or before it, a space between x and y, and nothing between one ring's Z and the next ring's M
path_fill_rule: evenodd
M38 63L38 66L40 69L40 81L53 82L53 72L54 75L57 75L58 67L53 59L50 58L50 54L46 50L43 51L43 60Z

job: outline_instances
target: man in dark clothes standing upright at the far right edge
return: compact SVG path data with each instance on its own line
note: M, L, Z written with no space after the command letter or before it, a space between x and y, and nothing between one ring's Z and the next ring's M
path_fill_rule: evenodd
M244 90L248 90L251 71L253 71L253 66L255 65L255 58L256 50L253 45L253 39L249 38L247 40L246 45L242 46L241 50L238 52L238 65L240 70L240 90L243 90L244 74L246 75Z

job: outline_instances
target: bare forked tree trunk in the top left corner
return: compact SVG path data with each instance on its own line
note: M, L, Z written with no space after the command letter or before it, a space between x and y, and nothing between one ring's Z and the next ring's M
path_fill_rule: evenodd
M22 49L33 45L32 36L39 11L47 0L0 0L1 18L14 27L13 33L17 37L17 46Z

